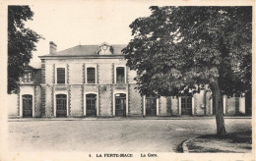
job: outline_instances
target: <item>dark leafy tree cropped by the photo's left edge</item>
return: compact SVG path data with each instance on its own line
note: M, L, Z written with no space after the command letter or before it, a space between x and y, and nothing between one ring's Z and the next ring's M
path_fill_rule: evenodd
M8 93L19 91L19 79L32 59L35 43L42 38L25 22L32 21L29 6L8 6Z

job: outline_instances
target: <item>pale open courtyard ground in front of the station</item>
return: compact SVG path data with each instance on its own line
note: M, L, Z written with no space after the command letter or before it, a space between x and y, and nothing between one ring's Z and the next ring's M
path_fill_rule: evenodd
M251 132L250 118L226 118L227 133ZM216 133L214 117L10 119L9 149L19 151L180 152L191 137Z

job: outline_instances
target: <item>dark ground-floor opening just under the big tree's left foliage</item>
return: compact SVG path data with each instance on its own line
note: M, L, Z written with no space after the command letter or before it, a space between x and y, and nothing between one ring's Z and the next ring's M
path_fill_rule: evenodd
M156 96L146 96L146 116L157 116Z

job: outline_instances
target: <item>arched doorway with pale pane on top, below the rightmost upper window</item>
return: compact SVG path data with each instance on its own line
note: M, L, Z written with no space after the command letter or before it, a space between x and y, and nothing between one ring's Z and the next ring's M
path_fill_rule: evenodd
M126 94L123 94L123 93L115 94L115 116L116 117L126 116Z

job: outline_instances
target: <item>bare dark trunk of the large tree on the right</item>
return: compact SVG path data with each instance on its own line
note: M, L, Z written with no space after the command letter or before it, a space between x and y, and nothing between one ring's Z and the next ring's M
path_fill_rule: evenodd
M223 136L226 134L224 128L224 108L222 106L222 93L218 80L214 82L214 101L214 106L216 109L217 135Z

